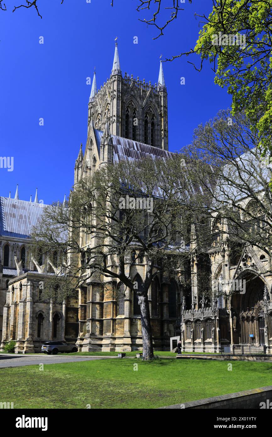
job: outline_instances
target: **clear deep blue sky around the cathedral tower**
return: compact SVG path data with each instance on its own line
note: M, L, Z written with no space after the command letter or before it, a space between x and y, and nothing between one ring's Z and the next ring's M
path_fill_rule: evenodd
M86 142L91 90L86 77L93 76L94 66L98 87L110 76L114 38L122 72L155 83L159 56L194 47L200 29L194 13L208 14L212 7L212 0L186 0L165 35L153 40L155 28L138 21L148 17L135 10L138 0L114 0L114 7L110 0L64 0L62 5L39 0L42 19L33 8L12 13L21 0L5 3L9 10L0 10L0 156L14 156L14 170L0 169L0 195L11 191L14 196L19 184L20 199L29 200L38 187L44 203L62 200L72 187L79 146ZM172 151L191 142L198 124L231 105L227 90L214 85L210 65L198 73L187 60L163 64ZM41 117L44 126L39 126Z

